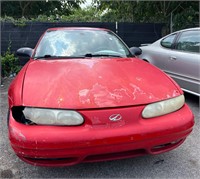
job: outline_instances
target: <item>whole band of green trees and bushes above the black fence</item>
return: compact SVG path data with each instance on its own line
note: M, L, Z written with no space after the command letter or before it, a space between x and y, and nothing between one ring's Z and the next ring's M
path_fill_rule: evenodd
M26 22L134 22L165 23L173 30L198 26L198 1L92 0L3 1L1 21L24 26ZM11 17L9 17L11 16ZM13 18L14 17L14 18Z

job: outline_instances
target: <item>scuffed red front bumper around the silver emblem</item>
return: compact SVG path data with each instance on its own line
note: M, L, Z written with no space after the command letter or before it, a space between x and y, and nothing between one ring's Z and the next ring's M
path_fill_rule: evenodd
M142 109L80 111L86 122L76 127L28 126L16 122L10 113L9 138L15 153L27 163L68 166L160 154L178 147L192 131L194 117L187 105L152 119L141 118ZM116 112L124 119L106 123L107 114Z

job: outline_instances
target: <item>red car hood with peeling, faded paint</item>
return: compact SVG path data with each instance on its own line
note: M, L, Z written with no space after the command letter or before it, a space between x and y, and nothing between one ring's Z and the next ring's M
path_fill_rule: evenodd
M30 60L25 106L90 109L152 103L180 95L156 67L136 58Z

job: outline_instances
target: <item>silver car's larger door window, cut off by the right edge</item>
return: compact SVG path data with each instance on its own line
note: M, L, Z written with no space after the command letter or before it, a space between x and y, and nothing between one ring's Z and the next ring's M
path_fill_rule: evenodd
M182 32L177 42L177 50L200 53L200 31Z

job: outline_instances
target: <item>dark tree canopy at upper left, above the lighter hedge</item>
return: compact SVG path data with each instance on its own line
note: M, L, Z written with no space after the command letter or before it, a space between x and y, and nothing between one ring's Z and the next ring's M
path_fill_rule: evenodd
M69 15L73 9L80 8L80 4L84 1L3 1L1 2L1 16L34 18L38 15Z

